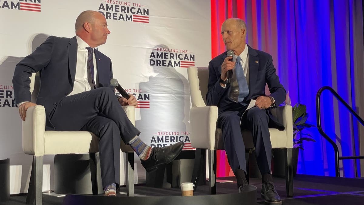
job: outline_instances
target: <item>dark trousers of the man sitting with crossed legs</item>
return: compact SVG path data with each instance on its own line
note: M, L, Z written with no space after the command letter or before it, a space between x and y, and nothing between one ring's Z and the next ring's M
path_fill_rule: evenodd
M119 185L120 136L127 144L140 132L110 88L62 98L51 112L50 121L56 131L89 131L98 136L102 185Z

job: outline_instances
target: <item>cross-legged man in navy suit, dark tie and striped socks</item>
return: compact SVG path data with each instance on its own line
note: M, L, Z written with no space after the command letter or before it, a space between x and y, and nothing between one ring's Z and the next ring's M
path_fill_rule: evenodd
M25 120L29 107L43 105L46 129L90 131L99 137L100 166L105 196L115 196L119 186L120 137L141 158L146 171L175 159L183 142L151 148L139 138L121 105L137 107L136 98L115 95L111 60L94 49L106 43L110 30L96 11L82 12L75 23L76 36L50 36L32 54L20 61L13 77L15 100ZM36 104L31 102L29 77L40 72Z

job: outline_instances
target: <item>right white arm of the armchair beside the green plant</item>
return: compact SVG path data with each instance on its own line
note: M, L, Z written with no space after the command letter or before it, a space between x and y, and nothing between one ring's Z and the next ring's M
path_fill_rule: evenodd
M287 137L287 147L293 147L293 122L292 106L285 105L272 109L272 115L276 117L279 123L284 125Z

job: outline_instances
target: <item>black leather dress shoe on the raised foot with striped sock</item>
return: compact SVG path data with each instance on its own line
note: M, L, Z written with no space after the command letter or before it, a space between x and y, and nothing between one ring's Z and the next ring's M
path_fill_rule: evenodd
M153 147L152 153L147 160L141 160L147 172L157 170L158 165L165 165L172 162L182 151L185 143L177 142L167 147Z

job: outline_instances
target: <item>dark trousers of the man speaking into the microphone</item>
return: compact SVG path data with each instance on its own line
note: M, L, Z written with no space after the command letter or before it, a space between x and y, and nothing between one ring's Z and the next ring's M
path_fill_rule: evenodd
M253 143L259 170L262 174L270 173L272 144L268 129L269 117L265 109L253 107L242 111L222 111L218 115L218 128L222 129L227 160L235 172L238 168L246 173L245 145L241 129L248 129L253 134Z

